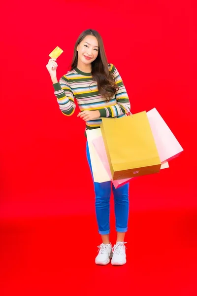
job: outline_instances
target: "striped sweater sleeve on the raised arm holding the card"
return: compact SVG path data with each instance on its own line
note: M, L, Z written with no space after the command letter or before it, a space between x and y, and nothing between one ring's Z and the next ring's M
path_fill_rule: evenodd
M57 98L60 110L66 116L72 115L76 107L74 95L68 81L66 76L62 76L60 82L53 84L55 90L54 94Z

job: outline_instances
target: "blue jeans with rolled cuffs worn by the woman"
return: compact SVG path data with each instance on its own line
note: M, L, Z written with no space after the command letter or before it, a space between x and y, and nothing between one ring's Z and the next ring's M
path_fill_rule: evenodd
M86 154L93 177L88 142L86 144ZM103 183L94 182L94 187L99 234L109 234L109 200L111 195L111 181ZM117 189L114 187L114 185L112 185L112 191L114 195L116 231L126 232L128 229L129 218L129 183L122 185Z

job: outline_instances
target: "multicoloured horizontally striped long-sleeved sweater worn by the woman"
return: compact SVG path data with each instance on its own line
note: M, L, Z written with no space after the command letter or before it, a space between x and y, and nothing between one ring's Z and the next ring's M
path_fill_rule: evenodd
M60 110L66 116L70 116L75 110L75 101L80 111L99 110L100 118L86 122L86 130L99 128L101 117L121 117L130 111L130 101L123 80L116 67L109 64L109 71L115 76L115 82L119 87L109 102L99 94L97 82L91 73L84 73L75 68L62 76L60 82L54 83L55 96Z

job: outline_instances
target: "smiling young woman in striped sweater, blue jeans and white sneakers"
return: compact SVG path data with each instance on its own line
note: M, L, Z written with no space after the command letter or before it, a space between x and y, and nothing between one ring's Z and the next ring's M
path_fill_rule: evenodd
M86 122L86 130L99 128L101 117L113 118L125 116L130 112L130 102L124 83L116 67L108 64L99 33L86 30L78 37L72 59L71 70L57 80L56 59L50 59L47 70L55 89L60 110L70 116L75 110L75 101L79 106L80 117ZM91 169L90 153L87 143L87 160ZM113 246L109 240L109 200L111 182L94 183L96 217L102 243L98 246L96 264L113 265L126 263L125 233L128 230L129 184L117 189L112 186L115 205L117 240Z

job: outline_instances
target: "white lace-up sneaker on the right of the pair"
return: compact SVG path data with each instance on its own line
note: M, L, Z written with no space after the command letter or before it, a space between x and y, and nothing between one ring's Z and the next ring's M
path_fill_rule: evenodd
M125 244L127 243L117 242L117 244L113 246L113 257L111 259L112 265L123 265L127 262Z

